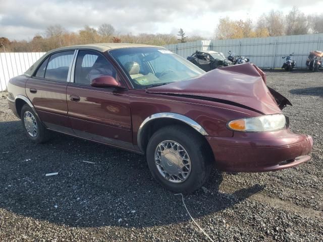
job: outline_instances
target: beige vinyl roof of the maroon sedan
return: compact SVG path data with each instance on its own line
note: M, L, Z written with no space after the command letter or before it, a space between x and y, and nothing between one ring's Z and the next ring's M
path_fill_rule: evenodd
M148 45L148 44L130 44L130 43L97 43L97 44L81 44L81 45L72 45L61 47L57 49L49 50L43 56L41 56L37 62L35 62L24 74L27 76L31 76L34 72L34 69L38 67L38 65L46 58L49 54L60 51L60 50L67 50L67 49L94 49L100 52L105 52L110 49L121 49L121 48L134 48L134 47L159 47L164 48L161 46L155 45Z

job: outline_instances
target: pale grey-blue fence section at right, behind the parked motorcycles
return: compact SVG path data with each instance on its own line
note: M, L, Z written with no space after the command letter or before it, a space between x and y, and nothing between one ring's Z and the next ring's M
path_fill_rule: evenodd
M311 50L323 50L323 34L307 34L266 38L244 38L226 40L198 40L187 43L170 44L167 49L186 58L195 50L228 51L250 58L250 62L260 68L274 69L283 65L282 56L294 52L297 68L306 68L306 59Z

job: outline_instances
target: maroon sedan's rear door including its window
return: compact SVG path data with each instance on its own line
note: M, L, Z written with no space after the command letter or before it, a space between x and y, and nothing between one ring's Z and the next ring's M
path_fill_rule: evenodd
M72 134L67 116L66 88L76 50L48 56L27 80L26 94L44 125L52 130Z

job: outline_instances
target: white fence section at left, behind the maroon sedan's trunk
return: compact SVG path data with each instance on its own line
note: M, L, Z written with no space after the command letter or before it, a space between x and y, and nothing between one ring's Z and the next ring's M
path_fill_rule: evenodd
M10 78L23 74L44 53L0 53L0 91L7 89Z

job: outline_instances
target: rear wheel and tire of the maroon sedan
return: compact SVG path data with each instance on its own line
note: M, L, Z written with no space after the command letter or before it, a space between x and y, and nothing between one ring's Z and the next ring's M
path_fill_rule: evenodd
M49 139L49 131L28 104L22 107L20 117L24 132L30 140L39 144Z

